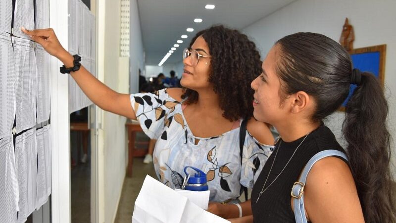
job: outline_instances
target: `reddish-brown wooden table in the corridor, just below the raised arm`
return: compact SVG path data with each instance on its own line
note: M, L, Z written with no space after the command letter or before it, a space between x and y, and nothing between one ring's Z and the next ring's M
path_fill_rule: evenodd
M128 134L128 167L127 167L127 176L132 177L132 165L134 157L143 157L146 155L147 150L136 150L135 149L135 139L136 132L143 132L142 127L137 122L132 122L130 119L125 123L127 127Z

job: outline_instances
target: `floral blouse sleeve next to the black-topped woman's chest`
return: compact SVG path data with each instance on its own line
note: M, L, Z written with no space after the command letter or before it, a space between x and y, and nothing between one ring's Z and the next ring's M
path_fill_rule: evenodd
M265 162L274 150L269 146L258 142L247 131L242 154L242 167L240 183L247 188L253 188L257 177L260 175Z

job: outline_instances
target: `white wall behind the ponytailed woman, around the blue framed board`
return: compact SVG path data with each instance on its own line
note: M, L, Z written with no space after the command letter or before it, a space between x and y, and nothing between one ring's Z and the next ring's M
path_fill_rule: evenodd
M338 42L345 18L353 25L354 48L387 44L385 86L390 106L388 125L396 140L396 21L395 0L297 0L263 19L247 26L243 31L252 37L262 57L278 39L295 32L316 32ZM344 113L332 115L326 124L340 142ZM396 163L396 144L393 143L393 164ZM394 176L396 169L394 168Z

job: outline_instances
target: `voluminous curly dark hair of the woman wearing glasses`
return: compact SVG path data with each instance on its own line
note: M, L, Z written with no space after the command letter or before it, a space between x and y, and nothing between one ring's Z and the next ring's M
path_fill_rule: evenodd
M236 121L253 115L253 93L250 83L261 73L260 54L245 34L223 25L197 33L190 48L202 36L209 46L211 63L209 83L219 96L223 117ZM187 105L197 103L198 92L186 88L182 99Z

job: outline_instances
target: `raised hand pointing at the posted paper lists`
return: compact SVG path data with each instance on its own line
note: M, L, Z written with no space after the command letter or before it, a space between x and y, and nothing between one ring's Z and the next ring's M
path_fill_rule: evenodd
M46 50L50 55L56 56L62 61L65 57L70 55L63 47L60 45L58 38L55 35L53 29L35 29L27 30L21 27L22 32L29 35L32 40Z

